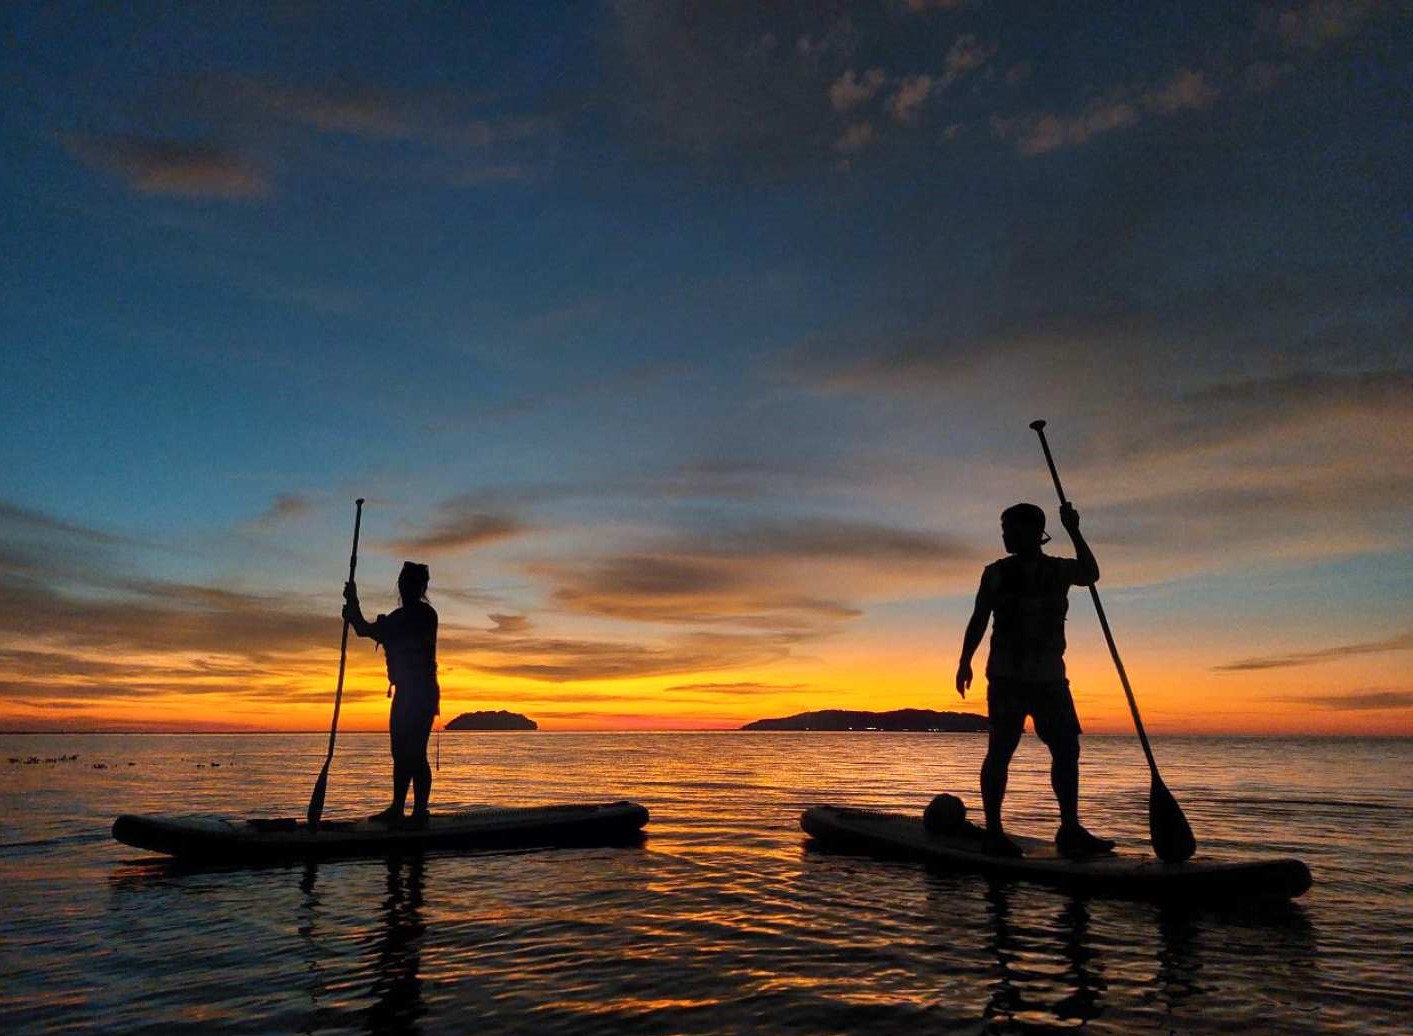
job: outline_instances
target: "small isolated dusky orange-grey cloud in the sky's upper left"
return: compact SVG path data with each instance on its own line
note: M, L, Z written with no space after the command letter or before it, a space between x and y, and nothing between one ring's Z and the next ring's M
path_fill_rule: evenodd
M162 137L76 136L69 153L119 177L131 191L182 198L257 198L268 192L261 172L212 144Z

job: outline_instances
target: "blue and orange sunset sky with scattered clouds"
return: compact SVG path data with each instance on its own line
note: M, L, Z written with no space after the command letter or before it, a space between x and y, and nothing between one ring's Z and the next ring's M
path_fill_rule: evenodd
M981 712L1046 418L1152 732L1413 734L1406 3L0 33L0 729L326 729L355 498L442 719ZM350 644L341 726L384 690Z

